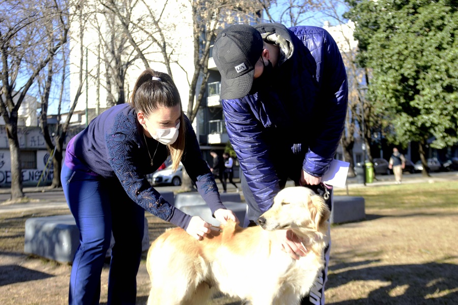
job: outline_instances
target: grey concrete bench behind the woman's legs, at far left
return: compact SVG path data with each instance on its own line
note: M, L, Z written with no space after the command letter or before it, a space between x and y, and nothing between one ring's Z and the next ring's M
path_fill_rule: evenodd
M114 239L107 257L111 255ZM61 263L72 263L79 245L79 229L73 215L29 218L25 221L24 252ZM148 221L145 218L145 234L141 242L142 251L150 247Z

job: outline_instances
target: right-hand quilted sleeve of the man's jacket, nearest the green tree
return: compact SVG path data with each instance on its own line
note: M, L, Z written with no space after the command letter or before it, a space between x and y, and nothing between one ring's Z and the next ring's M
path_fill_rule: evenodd
M336 153L344 130L348 104L348 82L344 61L331 35L319 27L297 27L298 37L310 50L317 62L317 80L321 95L322 128L317 129L305 155L303 169L310 175L321 177ZM321 35L320 35L321 34Z

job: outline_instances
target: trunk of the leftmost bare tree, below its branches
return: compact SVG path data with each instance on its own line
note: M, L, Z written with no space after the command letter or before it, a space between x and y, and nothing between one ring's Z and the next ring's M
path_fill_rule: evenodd
M10 145L11 155L11 200L24 198L22 192L22 170L21 170L21 155L19 148L19 139L17 137L17 117L16 122L6 125L8 144Z

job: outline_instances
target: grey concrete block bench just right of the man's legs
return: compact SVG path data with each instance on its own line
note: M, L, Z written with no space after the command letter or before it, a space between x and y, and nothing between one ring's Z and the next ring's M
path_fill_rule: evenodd
M334 196L331 224L360 221L366 218L364 198L357 196Z

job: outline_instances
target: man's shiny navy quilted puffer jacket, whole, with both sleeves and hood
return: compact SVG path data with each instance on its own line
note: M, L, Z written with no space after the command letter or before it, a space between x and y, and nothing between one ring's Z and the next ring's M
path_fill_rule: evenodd
M326 171L344 129L348 84L338 47L325 29L255 27L281 49L275 78L222 105L242 171L261 210L267 210L280 180L298 182L302 169L317 177Z

